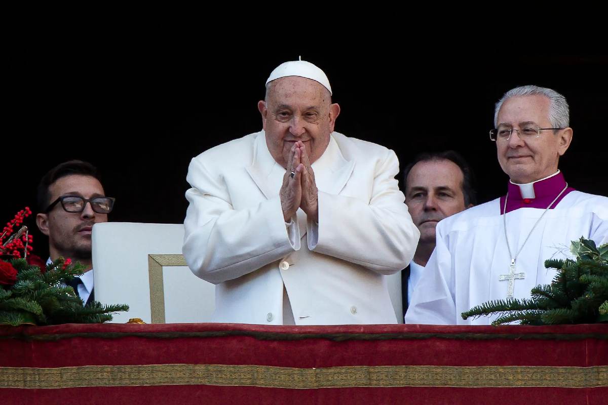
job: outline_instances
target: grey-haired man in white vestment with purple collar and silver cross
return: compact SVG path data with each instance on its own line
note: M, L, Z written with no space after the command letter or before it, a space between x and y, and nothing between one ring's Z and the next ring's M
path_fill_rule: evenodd
M490 138L510 177L505 196L437 225L437 246L407 310L409 324L490 324L460 314L486 301L530 298L579 237L608 241L608 198L573 189L558 169L572 141L568 104L554 90L517 87L496 104Z

